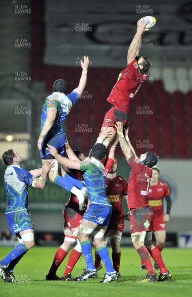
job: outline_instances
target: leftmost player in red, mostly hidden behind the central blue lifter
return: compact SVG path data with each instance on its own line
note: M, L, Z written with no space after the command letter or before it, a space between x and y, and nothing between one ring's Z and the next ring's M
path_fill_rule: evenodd
M84 153L81 153L78 150L73 150L74 154L72 153L72 149L67 145L66 149L67 155L69 158L74 160L84 160L85 155ZM80 180L83 181L83 174L84 172L82 170L76 170L76 169L70 169L73 174ZM63 208L63 217L64 217L64 242L63 244L57 249L54 260L52 262L52 265L49 269L48 275L46 276L46 280L48 281L57 281L57 280L63 280L63 281L74 281L74 279L71 276L71 271L73 267L75 266L76 262L82 255L82 249L80 246L80 243L74 247L72 250L68 263L65 268L65 272L61 278L59 278L56 275L56 271L59 268L60 264L66 257L69 250L74 246L76 240L77 240L77 233L78 233L78 227L80 225L80 222L82 220L82 217L85 213L85 210L80 211L79 210L79 200L77 196L71 193L68 202L66 203L65 207Z

